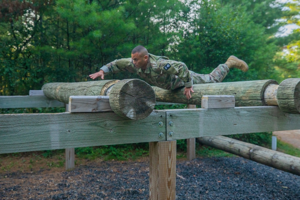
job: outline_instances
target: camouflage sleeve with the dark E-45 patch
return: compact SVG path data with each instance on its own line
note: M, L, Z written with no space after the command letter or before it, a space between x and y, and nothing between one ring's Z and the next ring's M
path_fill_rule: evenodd
M164 60L160 62L160 68L162 72L178 76L184 82L185 87L189 88L193 85L190 71L183 62Z

